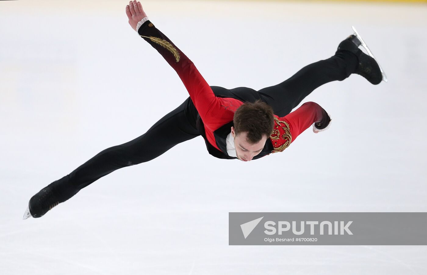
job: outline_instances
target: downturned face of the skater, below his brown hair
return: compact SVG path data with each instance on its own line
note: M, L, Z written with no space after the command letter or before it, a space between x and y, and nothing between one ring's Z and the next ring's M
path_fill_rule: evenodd
M267 137L263 136L259 142L251 144L246 141L247 134L240 133L239 135L236 135L236 132L234 132L234 127L231 127L231 135L234 137L236 156L241 161L251 161L254 156L261 153L267 140Z

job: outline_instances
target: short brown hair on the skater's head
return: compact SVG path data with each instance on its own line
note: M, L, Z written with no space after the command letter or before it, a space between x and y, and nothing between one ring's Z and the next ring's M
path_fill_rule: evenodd
M247 133L247 142L254 144L271 135L274 127L273 108L263 101L245 102L234 113L236 135Z

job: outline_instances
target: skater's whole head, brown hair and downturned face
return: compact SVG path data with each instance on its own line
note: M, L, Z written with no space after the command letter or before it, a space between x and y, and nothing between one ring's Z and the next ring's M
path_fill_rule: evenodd
M237 158L252 160L261 153L274 127L273 109L263 101L246 102L237 108L231 127Z

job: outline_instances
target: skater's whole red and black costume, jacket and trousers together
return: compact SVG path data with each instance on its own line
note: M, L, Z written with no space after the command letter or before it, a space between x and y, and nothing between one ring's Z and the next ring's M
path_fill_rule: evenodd
M175 69L190 98L142 136L101 151L67 176L51 183L49 187L59 202L69 199L112 171L147 162L173 146L200 135L204 137L211 155L236 159L228 156L225 138L233 126L234 112L243 102L260 99L272 106L275 112L274 131L254 159L281 152L313 122L319 122L319 129L330 122L325 110L314 102L304 103L291 113L292 109L320 85L347 78L358 65L354 53L338 50L331 58L304 67L280 84L259 91L246 87L228 90L209 86L193 62L150 21L143 23L138 34Z

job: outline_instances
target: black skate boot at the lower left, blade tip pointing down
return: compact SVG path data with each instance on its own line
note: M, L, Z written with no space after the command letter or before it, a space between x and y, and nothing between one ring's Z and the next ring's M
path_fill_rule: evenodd
M47 186L29 200L28 208L25 211L23 219L25 220L30 216L39 218L50 209L57 206L59 202L58 198L53 194L52 189Z

